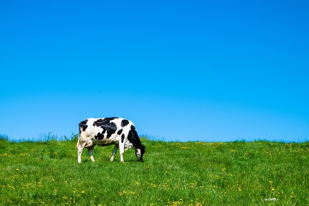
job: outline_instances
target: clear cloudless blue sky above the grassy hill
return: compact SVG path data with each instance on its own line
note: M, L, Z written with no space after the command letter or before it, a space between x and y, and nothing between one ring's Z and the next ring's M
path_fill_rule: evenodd
M0 2L0 134L122 117L165 140L309 140L309 1Z

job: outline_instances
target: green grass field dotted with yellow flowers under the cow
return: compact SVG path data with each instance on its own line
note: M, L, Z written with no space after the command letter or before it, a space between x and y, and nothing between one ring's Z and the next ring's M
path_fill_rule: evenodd
M309 142L142 143L144 163L96 146L77 164L76 140L0 138L0 205L309 206Z

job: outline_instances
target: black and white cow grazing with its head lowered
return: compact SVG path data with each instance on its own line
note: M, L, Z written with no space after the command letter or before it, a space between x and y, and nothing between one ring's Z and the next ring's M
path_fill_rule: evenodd
M76 148L78 150L78 163L81 162L83 148L88 149L90 160L94 162L92 151L95 145L115 145L111 161L119 149L120 162L123 163L123 153L129 148L135 149L138 161L143 162L145 146L137 135L134 124L122 118L89 118L79 123L79 136Z

